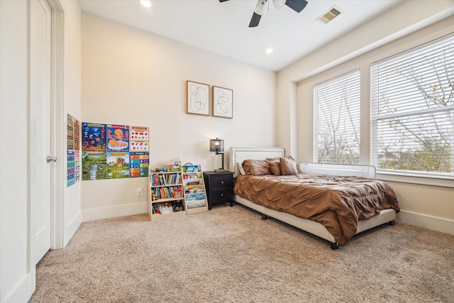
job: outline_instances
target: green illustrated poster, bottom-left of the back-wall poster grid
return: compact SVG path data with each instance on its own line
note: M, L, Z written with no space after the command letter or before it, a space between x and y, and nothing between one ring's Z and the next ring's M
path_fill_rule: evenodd
M82 180L103 180L107 178L105 151L82 152Z

